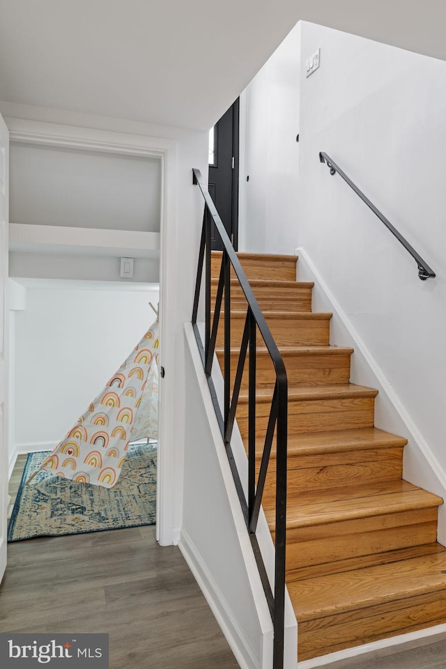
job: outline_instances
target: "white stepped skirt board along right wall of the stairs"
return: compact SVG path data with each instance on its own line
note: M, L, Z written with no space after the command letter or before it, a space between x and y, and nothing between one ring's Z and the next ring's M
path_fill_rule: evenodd
M446 472L431 447L417 429L378 362L371 355L305 249L302 247L295 249L295 255L299 256L298 280L314 281L314 311L327 310L333 313L330 325L332 344L351 346L355 349L352 356L351 382L374 387L379 391L375 414L376 425L380 429L408 438L408 445L404 449L403 479L446 500ZM438 507L437 541L446 546L446 504Z

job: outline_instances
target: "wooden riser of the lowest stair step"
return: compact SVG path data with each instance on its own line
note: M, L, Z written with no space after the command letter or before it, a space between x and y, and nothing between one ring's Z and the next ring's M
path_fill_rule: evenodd
M298 659L304 661L445 622L446 591L298 621Z

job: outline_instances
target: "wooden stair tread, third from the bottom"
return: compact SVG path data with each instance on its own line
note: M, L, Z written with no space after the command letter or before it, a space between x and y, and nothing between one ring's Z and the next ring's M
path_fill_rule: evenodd
M362 427L353 430L332 430L329 432L308 432L289 434L287 450L290 455L315 455L337 451L389 448L405 446L407 439L397 434L385 432L377 427ZM263 451L264 438L257 438L256 445ZM276 445L273 443L271 458L276 456Z

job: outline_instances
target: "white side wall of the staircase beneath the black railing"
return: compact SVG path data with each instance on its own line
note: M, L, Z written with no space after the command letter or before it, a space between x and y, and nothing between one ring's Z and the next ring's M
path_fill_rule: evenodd
M273 630L251 542L222 443L197 341L184 326L186 421L183 524L178 546L242 669L271 669ZM213 379L221 396L218 364ZM231 440L242 479L247 457L237 426ZM268 577L274 546L261 512L257 532ZM284 669L296 668L297 622L286 593Z

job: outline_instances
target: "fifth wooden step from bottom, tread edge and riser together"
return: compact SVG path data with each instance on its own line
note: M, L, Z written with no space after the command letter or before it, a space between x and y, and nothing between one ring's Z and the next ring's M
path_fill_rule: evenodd
M281 346L280 354L283 357L286 376L289 385L321 385L334 383L348 383L350 379L350 359L353 348L337 346ZM220 367L223 369L224 353L222 348L215 351ZM231 349L231 380L236 377L240 350ZM249 360L249 352L247 353ZM242 387L248 383L248 363L245 362ZM270 389L274 387L275 369L270 354L265 346L257 346L256 356L256 385Z

